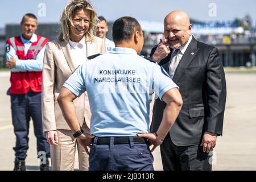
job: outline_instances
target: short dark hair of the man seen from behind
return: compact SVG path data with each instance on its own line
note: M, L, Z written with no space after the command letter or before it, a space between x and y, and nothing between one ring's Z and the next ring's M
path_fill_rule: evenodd
M123 16L115 20L113 24L114 43L131 40L131 36L137 30L142 30L137 19L130 16Z

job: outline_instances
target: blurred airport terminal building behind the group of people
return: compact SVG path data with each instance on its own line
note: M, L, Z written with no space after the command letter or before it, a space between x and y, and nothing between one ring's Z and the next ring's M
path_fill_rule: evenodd
M256 65L256 27L250 22L250 17L228 22L196 22L191 21L192 35L201 42L218 48L224 67L251 67ZM149 56L152 47L163 37L163 23L139 21L144 34L142 54ZM247 23L247 24L246 24ZM113 22L109 22L112 30ZM49 40L57 38L60 30L58 23L40 23L36 34ZM5 42L12 36L18 36L21 28L19 24L7 24L0 28L0 68L5 68ZM108 38L112 39L111 31Z

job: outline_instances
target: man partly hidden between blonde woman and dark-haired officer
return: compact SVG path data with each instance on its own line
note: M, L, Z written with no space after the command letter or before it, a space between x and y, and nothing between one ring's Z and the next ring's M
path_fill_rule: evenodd
M98 23L96 35L105 40L106 51L109 52L115 47L115 44L106 38L106 32L109 31L108 22L103 16L98 16L98 19L100 23Z

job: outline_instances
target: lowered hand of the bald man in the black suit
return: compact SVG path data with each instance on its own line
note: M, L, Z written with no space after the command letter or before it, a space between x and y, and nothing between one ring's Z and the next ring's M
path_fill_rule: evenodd
M203 146L203 152L209 152L216 146L217 134L205 132L201 143Z

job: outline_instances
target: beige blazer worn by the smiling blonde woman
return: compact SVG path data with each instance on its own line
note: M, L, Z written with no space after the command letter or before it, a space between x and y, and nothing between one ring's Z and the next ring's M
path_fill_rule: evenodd
M87 56L106 52L104 39L95 38L94 42L86 42ZM64 82L75 71L71 57L71 48L68 42L53 40L47 43L43 62L42 85L42 117L43 131L70 130L57 102ZM74 101L76 114L80 126L84 119L90 127L90 107L87 93L85 92Z

